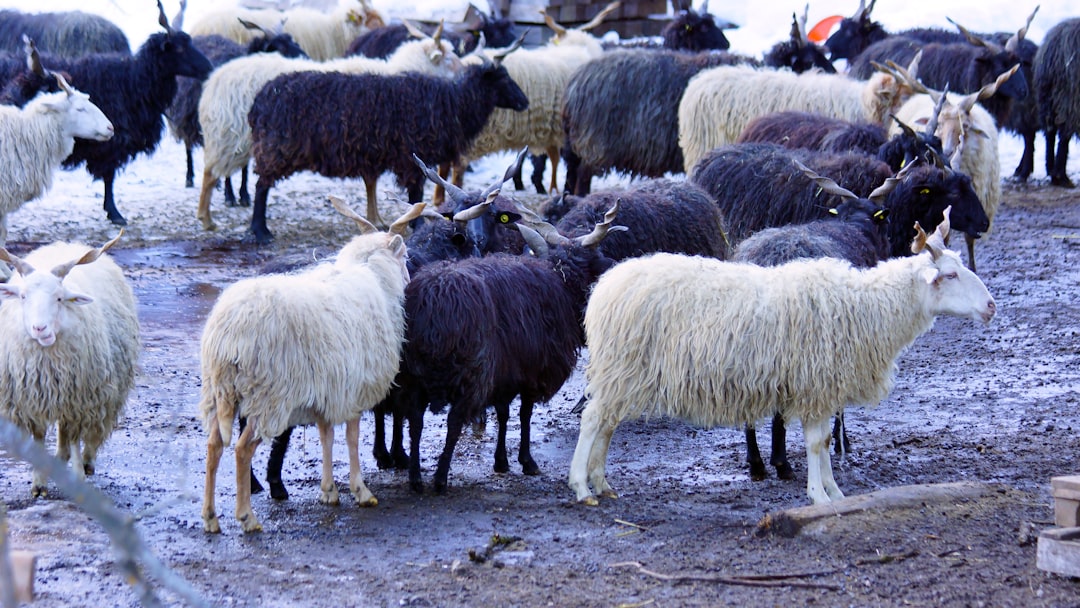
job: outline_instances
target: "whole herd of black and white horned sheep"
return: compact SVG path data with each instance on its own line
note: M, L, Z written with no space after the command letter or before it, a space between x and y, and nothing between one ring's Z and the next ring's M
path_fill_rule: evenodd
M332 446L345 423L349 491L377 504L359 459L368 410L378 465L407 469L418 492L424 416L446 413L432 481L445 492L462 429L489 407L495 471L510 470L518 400L517 461L538 474L534 407L585 347L568 474L579 502L616 496L612 434L649 415L744 427L755 479L767 470L754 424L771 418L770 462L791 478L783 425L798 420L809 499L840 499L829 448L846 441L843 407L883 400L897 356L936 316L995 315L975 244L1001 198L999 131L1023 137L1015 178L1031 175L1041 132L1050 181L1072 186L1080 18L1039 45L1026 37L1035 12L1005 31L890 32L863 0L825 41L793 15L791 40L755 57L728 51L731 24L689 8L658 39L617 43L591 30L618 2L576 27L544 15L550 41L524 48L524 29L495 8L437 26L388 23L367 0L327 13L229 9L186 32L183 0L173 19L158 6L162 30L135 53L97 16L0 11L0 415L42 443L55 424L57 457L90 475L135 381L135 298L107 254L120 237L25 257L4 248L5 216L58 168L84 164L105 185L106 219L123 227L118 172L158 146L167 121L188 187L202 149L192 222L214 229L211 199L224 191L252 207L246 239L259 244L273 239L275 184L305 171L363 178L364 213L333 200L360 234L332 259L241 280L210 312L199 403L208 532L221 530L216 473L234 424L246 532L261 529L253 454L271 443L270 495L287 498L296 425L319 429L321 502L340 500ZM470 160L507 150L519 153L504 175L463 187ZM539 207L504 189L525 187L527 160L551 194ZM612 171L635 179L593 192ZM379 213L386 173L406 191L401 217ZM800 343L823 348L807 356ZM31 495L48 484L35 472Z

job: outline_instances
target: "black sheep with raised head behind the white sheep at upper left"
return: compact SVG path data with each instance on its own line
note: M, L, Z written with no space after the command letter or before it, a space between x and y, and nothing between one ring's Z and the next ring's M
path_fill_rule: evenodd
M204 79L213 66L191 44L191 37L174 29L158 2L159 22L165 28L147 38L138 53L99 53L78 59L42 57L51 69L71 75L71 85L90 95L109 117L116 135L108 141L76 139L75 151L64 161L67 168L83 163L94 179L105 181L105 213L109 221L125 226L117 210L112 183L117 171L139 153L150 153L164 131L162 113L176 95L176 77Z

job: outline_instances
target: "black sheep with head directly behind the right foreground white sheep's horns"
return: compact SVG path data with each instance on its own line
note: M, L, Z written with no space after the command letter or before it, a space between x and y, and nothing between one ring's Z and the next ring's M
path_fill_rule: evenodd
M915 221L936 226L947 206L953 207L957 230L977 237L989 225L967 175L921 161L885 188L893 172L886 163L864 154L735 144L712 150L694 167L690 179L716 200L728 222L728 238L738 246L764 228L826 217L827 210L840 202L834 193L802 179L794 165L796 160L856 195L873 201L877 191L877 197L885 197L881 203L890 214L890 256L909 255Z

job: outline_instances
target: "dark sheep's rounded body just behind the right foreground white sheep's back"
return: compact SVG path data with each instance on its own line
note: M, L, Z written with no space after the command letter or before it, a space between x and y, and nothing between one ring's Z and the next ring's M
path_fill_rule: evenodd
M561 234L580 237L602 221L617 201L619 224L629 230L604 240L604 255L616 261L657 252L717 259L730 254L719 207L708 193L686 180L647 179L625 190L583 198L564 194L548 205L544 219L555 224Z

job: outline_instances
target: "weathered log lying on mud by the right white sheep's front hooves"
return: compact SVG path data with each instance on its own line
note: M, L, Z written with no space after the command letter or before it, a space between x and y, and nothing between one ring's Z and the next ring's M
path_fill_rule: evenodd
M897 486L869 494L849 496L824 504L796 506L769 513L757 524L757 535L779 535L793 538L807 526L831 517L853 517L865 512L915 509L928 504L945 504L976 500L996 494L989 484L957 482Z

